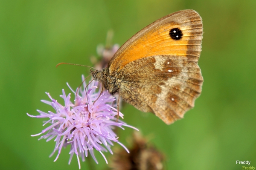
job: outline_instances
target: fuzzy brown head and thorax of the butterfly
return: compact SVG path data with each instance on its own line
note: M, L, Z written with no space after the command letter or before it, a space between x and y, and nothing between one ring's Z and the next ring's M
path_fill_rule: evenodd
M92 75L95 81L102 82L102 84L104 84L105 89L107 89L111 95L119 91L120 83L117 80L117 78L109 74L108 68L94 71L90 69L90 74Z

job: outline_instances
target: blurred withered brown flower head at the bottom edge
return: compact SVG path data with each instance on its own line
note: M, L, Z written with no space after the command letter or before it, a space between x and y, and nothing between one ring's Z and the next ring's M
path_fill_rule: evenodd
M114 150L111 170L164 170L165 156L140 133L134 133L131 153Z

